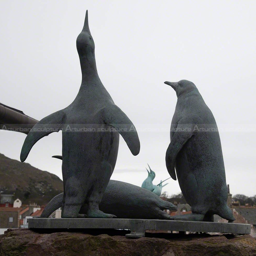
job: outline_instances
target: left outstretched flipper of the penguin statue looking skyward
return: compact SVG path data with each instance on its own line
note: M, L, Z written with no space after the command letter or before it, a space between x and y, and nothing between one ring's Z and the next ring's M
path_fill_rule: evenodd
M20 161L24 162L33 145L52 132L58 132L65 122L65 112L57 111L41 119L28 133L20 153Z

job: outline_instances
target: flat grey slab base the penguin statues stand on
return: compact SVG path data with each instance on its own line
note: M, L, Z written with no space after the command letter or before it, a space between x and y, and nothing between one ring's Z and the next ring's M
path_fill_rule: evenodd
M251 225L238 223L171 221L162 219L31 218L30 229L129 229L127 238L145 237L146 230L250 234ZM57 232L57 230L56 230ZM104 233L104 230L102 231Z

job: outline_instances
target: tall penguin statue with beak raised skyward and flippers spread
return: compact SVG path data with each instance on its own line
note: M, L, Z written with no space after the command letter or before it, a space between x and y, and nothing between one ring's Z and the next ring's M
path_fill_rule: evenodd
M82 70L79 93L67 108L43 118L33 127L23 144L20 160L26 160L38 140L61 129L64 186L62 217L77 217L81 206L86 203L87 217L112 218L115 215L99 210L99 203L115 167L118 132L133 155L139 154L140 141L131 120L114 104L100 81L95 45L88 25L88 11L83 30L76 39L76 47ZM95 124L89 128L96 132L81 132L80 128L86 128L87 124ZM77 129L77 132L73 132Z

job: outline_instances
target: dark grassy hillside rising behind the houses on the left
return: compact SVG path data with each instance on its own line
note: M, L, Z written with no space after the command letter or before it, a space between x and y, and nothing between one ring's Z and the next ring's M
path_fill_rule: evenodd
M15 193L14 199L19 198L25 204L43 205L63 192L63 182L52 173L0 154L0 191Z

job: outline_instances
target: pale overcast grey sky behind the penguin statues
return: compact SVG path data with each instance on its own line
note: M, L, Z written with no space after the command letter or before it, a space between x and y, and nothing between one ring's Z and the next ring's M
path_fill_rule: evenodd
M256 194L255 1L0 1L0 102L35 118L65 108L81 84L76 37L88 9L100 79L141 141L133 156L120 137L112 179L141 185L169 177L165 153L176 105L164 81L194 82L220 132L232 194ZM159 128L164 131L153 131ZM251 129L226 131L225 129ZM19 160L26 135L0 131L0 153ZM26 162L61 175L61 132ZM164 188L179 193L177 181Z

